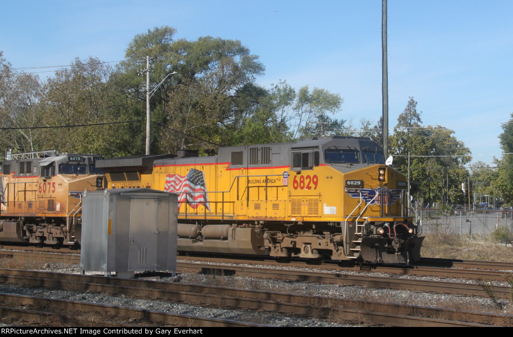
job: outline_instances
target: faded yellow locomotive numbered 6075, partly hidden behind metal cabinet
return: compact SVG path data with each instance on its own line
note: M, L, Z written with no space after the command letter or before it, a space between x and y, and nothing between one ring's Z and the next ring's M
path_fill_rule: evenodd
M0 171L0 241L79 245L82 193L101 189L98 155L10 154Z

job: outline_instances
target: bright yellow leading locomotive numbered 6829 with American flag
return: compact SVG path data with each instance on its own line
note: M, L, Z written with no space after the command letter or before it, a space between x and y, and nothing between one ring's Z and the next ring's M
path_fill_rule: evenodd
M221 147L98 162L107 188L179 194L180 251L409 263L423 237L406 178L368 138Z

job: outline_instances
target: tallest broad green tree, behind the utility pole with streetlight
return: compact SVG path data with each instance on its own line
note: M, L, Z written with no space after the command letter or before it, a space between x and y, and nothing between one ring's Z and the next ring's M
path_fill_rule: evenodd
M164 26L137 34L128 45L126 60L118 68L121 88L128 87L125 92L139 102L145 101L145 82L137 80L136 74L146 55L152 58L151 88L169 73L177 72L162 82L150 101L154 122L151 152L197 146L201 142L194 137L229 143L240 120L251 113L241 111L239 103L255 77L263 73L264 66L238 40L211 36L196 41L174 40L175 32ZM134 113L145 118L144 104L139 106ZM184 134L189 132L198 134L186 140ZM176 143L170 145L170 141Z

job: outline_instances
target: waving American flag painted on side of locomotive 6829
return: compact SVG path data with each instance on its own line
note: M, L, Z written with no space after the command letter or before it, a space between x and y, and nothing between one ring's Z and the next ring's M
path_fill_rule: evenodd
M182 202L187 202L187 204L193 209L197 209L199 205L203 205L208 211L210 211L210 205L207 197L207 186L205 184L205 176L202 171L191 168L187 176L168 174L166 176L164 191L179 193L179 208Z

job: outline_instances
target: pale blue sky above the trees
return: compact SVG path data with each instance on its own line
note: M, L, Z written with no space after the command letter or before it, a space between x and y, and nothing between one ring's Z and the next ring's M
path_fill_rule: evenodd
M89 56L120 61L135 34L167 25L176 38L240 40L260 56L266 71L257 82L267 88L286 80L296 89L340 93L344 104L336 118L376 122L382 114L380 0L0 5L0 50L14 68ZM424 125L455 130L473 161L491 163L502 152L501 123L513 113L511 13L511 0L388 0L390 132L413 97Z

